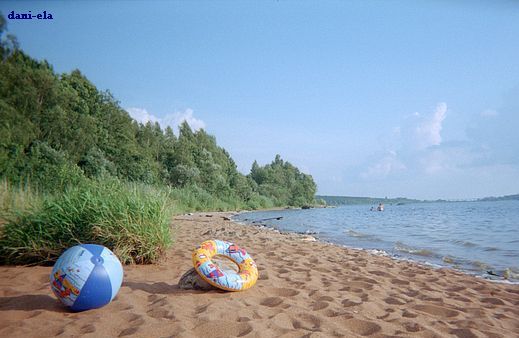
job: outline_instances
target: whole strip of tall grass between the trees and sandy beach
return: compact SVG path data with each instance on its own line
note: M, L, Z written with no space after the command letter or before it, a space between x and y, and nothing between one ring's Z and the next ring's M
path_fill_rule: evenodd
M84 179L59 193L0 183L0 263L51 264L79 243L105 245L123 263L157 262L174 238L172 215L272 207L258 196L247 203L205 190Z

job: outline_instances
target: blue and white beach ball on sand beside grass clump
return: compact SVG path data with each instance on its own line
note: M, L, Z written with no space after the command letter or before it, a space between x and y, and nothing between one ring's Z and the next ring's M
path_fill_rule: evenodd
M102 245L81 244L67 249L50 274L52 292L72 311L102 307L112 301L123 282L123 266Z

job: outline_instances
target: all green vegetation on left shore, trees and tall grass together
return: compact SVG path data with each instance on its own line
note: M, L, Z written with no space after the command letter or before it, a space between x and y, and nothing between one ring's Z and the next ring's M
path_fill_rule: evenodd
M314 203L279 155L249 175L204 130L134 121L79 70L23 53L0 15L0 262L52 261L76 243L156 261L172 213ZM3 224L3 225L1 225Z

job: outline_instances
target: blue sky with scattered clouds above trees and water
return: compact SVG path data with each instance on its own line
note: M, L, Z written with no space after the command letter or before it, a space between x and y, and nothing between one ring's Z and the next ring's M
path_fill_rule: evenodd
M247 173L275 154L319 193L519 193L514 1L2 2L31 56L134 118L205 128Z

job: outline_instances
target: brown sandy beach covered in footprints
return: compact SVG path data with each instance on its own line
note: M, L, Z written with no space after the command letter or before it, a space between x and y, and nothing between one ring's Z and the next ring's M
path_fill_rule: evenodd
M0 267L1 337L519 337L519 285L499 284L310 238L179 216L157 265L126 266L109 305L71 313L49 267ZM234 241L260 272L244 292L181 290L192 249Z

